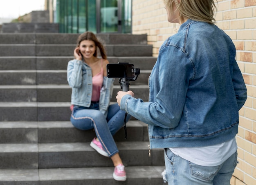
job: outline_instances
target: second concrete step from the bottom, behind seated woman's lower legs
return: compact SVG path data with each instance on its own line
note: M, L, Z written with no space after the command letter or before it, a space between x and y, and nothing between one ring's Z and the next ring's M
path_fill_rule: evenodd
M163 149L150 150L148 141L116 142L125 166L164 165ZM97 157L96 157L97 156ZM131 159L132 156L132 159ZM0 144L1 169L110 167L110 158L85 143Z

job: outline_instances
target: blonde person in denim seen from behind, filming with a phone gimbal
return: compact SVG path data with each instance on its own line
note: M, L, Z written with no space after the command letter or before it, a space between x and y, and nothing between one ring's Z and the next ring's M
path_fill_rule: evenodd
M237 163L238 111L247 99L236 48L213 18L213 0L164 0L177 33L159 48L149 102L118 92L121 110L148 124L164 148L169 185L229 185Z

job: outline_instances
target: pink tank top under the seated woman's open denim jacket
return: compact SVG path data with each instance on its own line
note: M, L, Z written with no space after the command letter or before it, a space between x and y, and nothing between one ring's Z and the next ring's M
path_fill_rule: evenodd
M103 84L103 67L102 67L102 59L101 59L101 71L92 77L92 100L91 101L99 101L100 91Z

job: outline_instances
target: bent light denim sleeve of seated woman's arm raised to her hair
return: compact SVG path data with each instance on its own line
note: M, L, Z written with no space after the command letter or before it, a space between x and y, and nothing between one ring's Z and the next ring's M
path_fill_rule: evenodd
M82 66L83 61L71 60L67 64L67 81L70 87L80 88L82 86Z

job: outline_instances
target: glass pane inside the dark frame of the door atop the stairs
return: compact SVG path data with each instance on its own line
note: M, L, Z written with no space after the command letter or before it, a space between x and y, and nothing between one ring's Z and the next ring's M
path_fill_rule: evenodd
M118 31L117 0L101 0L101 33Z

